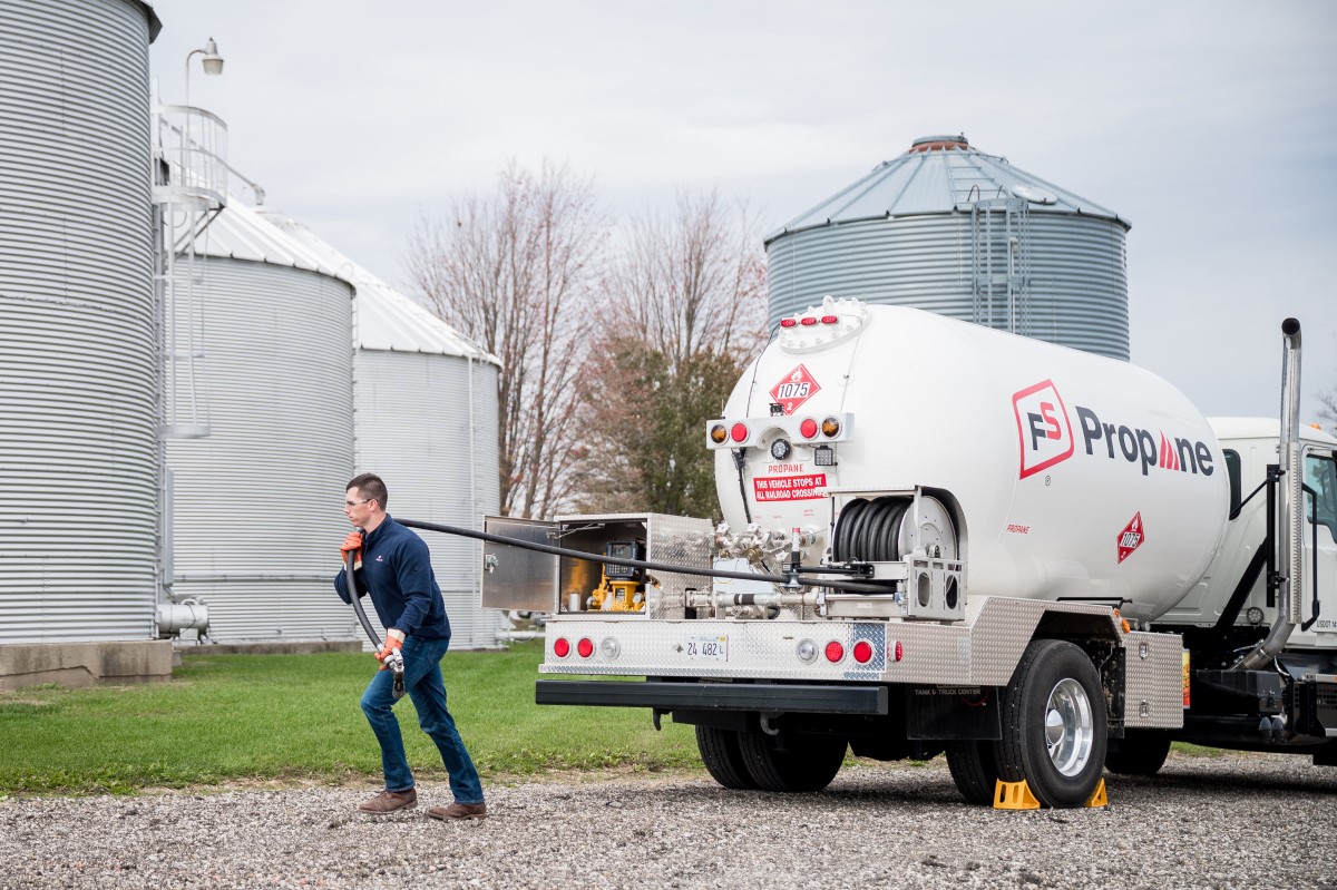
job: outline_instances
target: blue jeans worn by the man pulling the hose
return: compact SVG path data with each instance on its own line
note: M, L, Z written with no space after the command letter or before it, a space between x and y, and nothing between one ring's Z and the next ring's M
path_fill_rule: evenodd
M404 688L417 708L418 726L427 732L437 750L441 763L451 774L451 791L457 803L483 803L483 783L473 760L460 740L455 719L445 708L445 682L441 679L441 656L451 647L451 640L424 640L409 636L404 640ZM400 735L400 722L394 718L394 675L392 671L377 671L362 694L362 714L366 715L376 740L381 743L381 766L385 770L388 791L408 791L413 787L413 772L404 755L404 736Z

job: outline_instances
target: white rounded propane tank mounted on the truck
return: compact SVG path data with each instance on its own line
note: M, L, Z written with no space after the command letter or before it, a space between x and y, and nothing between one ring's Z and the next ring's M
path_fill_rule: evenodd
M804 553L814 564L830 545L828 488L940 489L959 508L968 596L1123 601L1136 620L1178 603L1219 547L1221 448L1150 372L898 306L828 298L792 318L734 388L714 444L731 527L825 529ZM830 438L828 418L842 425ZM834 465L818 465L824 442Z

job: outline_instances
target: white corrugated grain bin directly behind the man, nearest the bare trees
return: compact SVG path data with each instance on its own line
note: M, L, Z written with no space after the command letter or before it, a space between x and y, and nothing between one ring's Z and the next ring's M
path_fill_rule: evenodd
M308 229L266 214L329 267L348 270L356 345L357 470L378 473L392 516L483 528L500 509L499 362ZM418 532L451 616L453 648L496 645L503 613L479 604L479 543Z

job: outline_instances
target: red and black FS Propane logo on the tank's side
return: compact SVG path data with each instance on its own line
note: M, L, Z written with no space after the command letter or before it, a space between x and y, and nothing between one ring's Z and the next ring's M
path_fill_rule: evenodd
M1088 457L1111 461L1122 458L1139 466L1143 476L1152 466L1193 476L1211 476L1217 470L1211 449L1201 440L1111 424L1083 405L1074 405L1074 410ZM1016 416L1016 434L1021 445L1019 478L1066 461L1076 452L1072 422L1054 381L1047 380L1015 393L1012 413Z

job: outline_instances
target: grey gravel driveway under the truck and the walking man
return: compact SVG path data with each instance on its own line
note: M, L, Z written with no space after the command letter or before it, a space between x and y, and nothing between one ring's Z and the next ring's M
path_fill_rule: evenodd
M964 804L939 758L860 764L817 795L705 772L488 786L492 818L366 817L376 790L0 802L0 887L1329 887L1337 767L1173 755L1099 810Z

